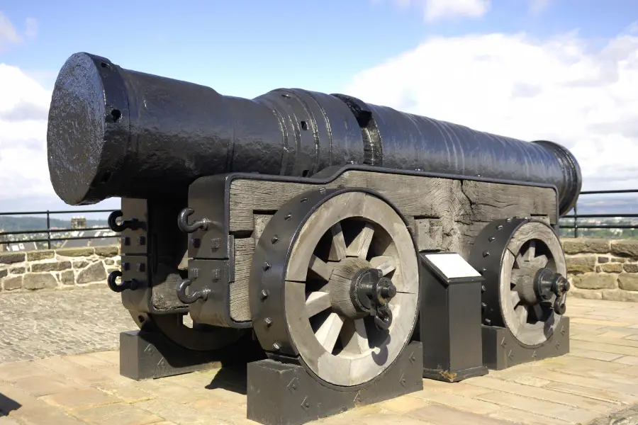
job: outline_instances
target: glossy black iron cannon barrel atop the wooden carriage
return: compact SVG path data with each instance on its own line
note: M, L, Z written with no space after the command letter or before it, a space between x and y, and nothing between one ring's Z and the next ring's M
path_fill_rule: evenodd
M113 196L184 196L200 176L231 171L311 176L369 164L549 183L561 215L581 190L573 155L402 113L340 94L276 89L254 99L123 69L86 53L69 57L53 89L50 178L70 205Z

